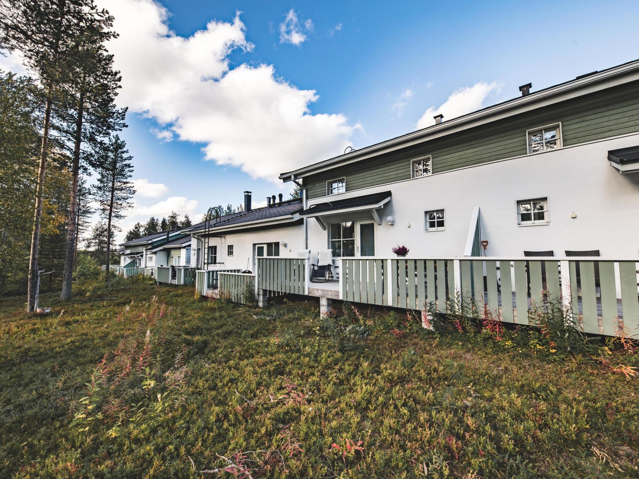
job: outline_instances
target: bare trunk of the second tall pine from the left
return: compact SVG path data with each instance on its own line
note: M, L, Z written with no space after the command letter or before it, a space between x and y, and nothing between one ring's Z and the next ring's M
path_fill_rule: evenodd
M84 83L84 82L83 82ZM75 142L73 144L73 169L71 178L71 195L69 199L69 217L66 228L66 258L65 272L62 277L62 292L60 293L61 301L71 299L71 283L73 280L73 259L75 253L75 235L77 234L76 217L77 217L77 195L78 195L78 177L80 175L80 147L82 144L82 114L84 113L84 86L81 87L80 97L78 99L78 116L75 120Z

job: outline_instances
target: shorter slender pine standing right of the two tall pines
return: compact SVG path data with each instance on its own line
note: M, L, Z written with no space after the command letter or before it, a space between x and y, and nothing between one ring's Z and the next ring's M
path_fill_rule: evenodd
M111 261L111 238L118 220L124 218L125 209L131 208L135 194L130 178L133 174L132 156L127 144L114 135L95 152L95 167L100 176L95 185L95 199L100 206L100 217L107 222L107 262ZM107 268L108 269L108 268ZM106 280L109 280L107 271Z

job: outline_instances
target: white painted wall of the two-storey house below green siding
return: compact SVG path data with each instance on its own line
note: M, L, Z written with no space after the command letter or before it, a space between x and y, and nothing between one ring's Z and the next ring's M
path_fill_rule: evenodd
M390 248L397 245L410 248L409 257L463 255L474 206L481 208L481 236L489 241L488 255L553 250L562 256L564 250L598 249L602 256L636 257L639 173L619 174L607 154L610 149L637 144L639 133L330 198L392 191L392 200L380 211L382 224L376 227L375 254L381 257L392 257ZM518 225L516 201L537 197L548 197L550 224ZM309 206L324 201L313 199ZM441 208L445 209L445 230L424 231L424 211ZM394 225L387 224L389 215ZM335 217L335 221L351 218L355 217ZM328 248L328 231L321 230L314 218L309 218L308 227L309 248Z

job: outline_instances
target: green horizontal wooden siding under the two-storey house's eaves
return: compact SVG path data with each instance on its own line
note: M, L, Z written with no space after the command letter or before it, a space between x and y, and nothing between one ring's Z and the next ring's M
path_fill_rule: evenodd
M326 195L328 180L343 176L346 191L409 179L410 162L420 156L431 155L438 173L526 155L526 130L558 122L564 146L639 131L639 81L312 174L304 183L313 199Z

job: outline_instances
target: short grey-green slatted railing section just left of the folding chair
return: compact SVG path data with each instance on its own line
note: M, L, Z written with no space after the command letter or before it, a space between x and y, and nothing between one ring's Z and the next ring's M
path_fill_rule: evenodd
M257 285L274 293L307 294L307 260L258 258Z

